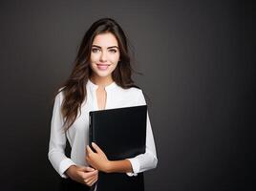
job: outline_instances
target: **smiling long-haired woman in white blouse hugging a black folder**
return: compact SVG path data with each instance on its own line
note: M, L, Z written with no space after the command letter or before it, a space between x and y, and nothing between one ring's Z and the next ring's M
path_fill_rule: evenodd
M158 163L155 142L147 116L146 152L132 159L110 161L96 144L89 146L89 112L145 105L142 91L131 78L127 39L110 18L96 21L85 33L72 74L54 99L49 159L62 178L64 190L90 188L98 171L138 173ZM66 139L72 147L65 156ZM91 167L89 167L91 166Z

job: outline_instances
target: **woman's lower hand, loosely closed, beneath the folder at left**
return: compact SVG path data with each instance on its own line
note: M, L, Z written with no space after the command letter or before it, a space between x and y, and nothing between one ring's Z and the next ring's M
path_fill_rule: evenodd
M80 167L72 165L66 170L66 174L72 180L78 181L88 186L92 186L97 180L98 171L89 166Z

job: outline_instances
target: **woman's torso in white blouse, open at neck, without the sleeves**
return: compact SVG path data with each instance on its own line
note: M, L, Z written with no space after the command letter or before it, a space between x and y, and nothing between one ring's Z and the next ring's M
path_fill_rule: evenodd
M107 88L87 84L87 97L81 105L81 115L67 131L67 138L72 145L71 159L79 165L86 165L85 145L89 143L89 113L91 111L131 107L144 104L139 101L142 94L137 88L122 89L117 85ZM63 100L63 95L62 99Z

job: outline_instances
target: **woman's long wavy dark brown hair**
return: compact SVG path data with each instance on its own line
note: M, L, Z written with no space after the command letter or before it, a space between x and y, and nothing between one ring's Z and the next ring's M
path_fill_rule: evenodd
M64 117L64 127L68 130L77 117L78 111L81 114L81 104L86 99L86 84L92 74L90 68L91 49L94 38L97 34L111 32L117 38L120 51L120 61L112 73L113 80L118 86L128 89L137 87L132 79L133 69L128 50L127 37L114 19L102 18L97 20L85 32L82 42L75 57L75 66L67 81L56 94L63 92L64 99L61 105L61 113Z

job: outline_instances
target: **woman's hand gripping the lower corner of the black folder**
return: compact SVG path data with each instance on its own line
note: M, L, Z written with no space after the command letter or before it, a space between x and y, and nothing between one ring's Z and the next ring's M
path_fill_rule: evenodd
M105 153L96 145L96 143L93 142L92 146L94 147L96 152L94 152L89 145L86 146L87 162L99 171L108 172L110 167L110 160L107 158Z

